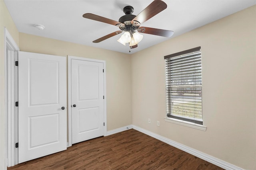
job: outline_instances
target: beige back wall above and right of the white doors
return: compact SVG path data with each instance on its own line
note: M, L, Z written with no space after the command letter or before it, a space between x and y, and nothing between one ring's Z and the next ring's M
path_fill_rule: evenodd
M132 124L130 55L25 33L20 33L19 44L20 51L105 60L107 130Z

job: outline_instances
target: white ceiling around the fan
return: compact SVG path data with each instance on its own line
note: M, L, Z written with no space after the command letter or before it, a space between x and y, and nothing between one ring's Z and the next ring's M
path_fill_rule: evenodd
M119 35L100 43L92 41L120 30L114 25L83 18L92 13L118 21L123 15L124 6L133 6L138 15L153 0L4 0L19 32L69 41L82 45L135 53L170 38L143 34L138 47L130 49L118 43ZM206 25L250 6L256 0L163 0L167 9L141 24L145 27L174 31L172 37ZM44 30L34 27L45 26ZM172 38L171 37L171 38ZM35 42L36 43L36 42Z

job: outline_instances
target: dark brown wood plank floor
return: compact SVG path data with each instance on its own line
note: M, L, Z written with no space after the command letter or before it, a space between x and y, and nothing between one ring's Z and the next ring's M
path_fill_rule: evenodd
M221 170L134 129L77 143L8 170Z

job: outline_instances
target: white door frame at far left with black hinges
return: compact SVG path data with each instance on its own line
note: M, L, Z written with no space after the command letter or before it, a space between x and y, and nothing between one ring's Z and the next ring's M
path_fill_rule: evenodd
M14 51L11 55L6 51ZM14 61L18 59L18 45L4 27L4 115L5 115L5 167L14 166L18 164L18 148L15 148L15 143L18 140L18 131L15 129L18 125L18 109L15 108L14 103L18 98L15 90L14 82L17 81L17 68L15 68ZM8 142L8 143L7 143Z

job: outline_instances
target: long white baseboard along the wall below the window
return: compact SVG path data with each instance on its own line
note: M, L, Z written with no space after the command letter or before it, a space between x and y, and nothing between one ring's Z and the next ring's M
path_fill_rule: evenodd
M190 147L187 147L185 145L182 145L180 143L172 141L172 140L170 140L168 138L165 138L165 137L162 137L160 135L157 135L156 133L152 133L150 131L147 131L146 129L142 129L142 128L140 128L138 126L135 126L135 125L132 125L132 128L135 129L136 131L140 131L141 133L144 133L144 134L146 134L148 136L151 136L151 137L153 137L155 139L158 139L158 140L160 140L160 141L162 141L164 143L167 143L167 144L169 144L169 145L171 145L173 147L176 147L176 148L178 148L180 150L188 152L188 153L190 153L190 154L192 154L192 155L194 155L194 156L196 156L198 158L206 160L207 162L210 162L210 163L212 163L214 165L217 165L217 166L219 166L221 168L224 168L226 170L242 170L242 168L239 168L239 167L234 166L232 164L229 164L229 163L227 163L227 162L225 162L223 160L220 160L218 158L214 158L214 157L212 157L212 156L210 156L208 154L205 154L205 153L200 152L198 150L192 149Z

